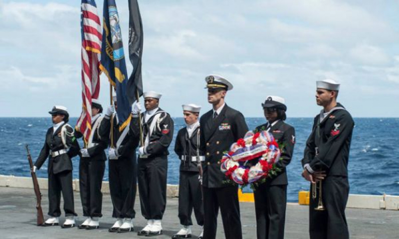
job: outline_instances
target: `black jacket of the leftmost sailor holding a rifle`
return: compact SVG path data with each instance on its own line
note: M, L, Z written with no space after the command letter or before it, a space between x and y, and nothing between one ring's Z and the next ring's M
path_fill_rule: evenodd
M66 136L66 145L64 146L61 139L61 129L62 127L66 127L66 130L69 134L73 134L73 128L68 124L62 124L58 129L53 132L53 127L48 128L46 133L46 139L44 141L43 148L40 151L39 157L37 158L34 166L37 169L40 169L41 166L44 164L46 159L49 159L47 171L48 173L51 172L53 174L58 174L64 171L72 171L72 161L71 158L76 156L79 152L79 145L77 143L76 138L72 136ZM50 151L56 152L62 149L68 150L66 154L61 154L56 157L51 157Z

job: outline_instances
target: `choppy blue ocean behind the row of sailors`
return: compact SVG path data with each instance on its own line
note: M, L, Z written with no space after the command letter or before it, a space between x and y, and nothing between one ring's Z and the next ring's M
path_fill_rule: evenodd
M185 126L183 118L173 118L176 137ZM351 194L399 195L399 118L355 118L351 154L349 159L349 182ZM75 124L77 118L69 123ZM265 122L264 118L247 118L249 129ZM312 128L313 118L289 118L295 127L296 145L294 156L287 167L288 201L298 202L298 191L309 190L309 183L302 176L301 159L305 142ZM0 174L30 177L25 144L29 145L32 159L36 160L44 143L51 118L0 118ZM82 145L82 142L80 142ZM168 159L168 184L179 184L180 160L174 152L173 140ZM73 177L78 178L79 157L72 159ZM108 168L108 166L107 166ZM47 177L47 162L37 171L38 177ZM108 181L106 169L104 181ZM249 188L244 190L250 191Z

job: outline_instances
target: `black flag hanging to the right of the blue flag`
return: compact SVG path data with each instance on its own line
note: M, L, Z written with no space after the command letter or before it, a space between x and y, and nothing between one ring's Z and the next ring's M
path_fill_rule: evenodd
M137 93L143 95L143 80L141 77L141 56L143 55L143 23L137 0L129 0L129 58L133 72L128 80L127 96L129 102L136 101Z

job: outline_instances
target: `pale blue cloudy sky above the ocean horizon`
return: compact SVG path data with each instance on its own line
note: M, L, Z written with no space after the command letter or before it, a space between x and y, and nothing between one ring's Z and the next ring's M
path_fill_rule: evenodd
M102 17L103 0L97 0ZM117 0L128 74L129 9ZM314 117L315 82L341 83L338 101L354 117L399 117L399 1L139 0L144 90L163 93L173 117L182 104L211 106L205 76L234 89L226 103L263 117L268 95L288 117ZM81 111L80 0L0 0L0 117ZM109 104L101 76L100 101Z

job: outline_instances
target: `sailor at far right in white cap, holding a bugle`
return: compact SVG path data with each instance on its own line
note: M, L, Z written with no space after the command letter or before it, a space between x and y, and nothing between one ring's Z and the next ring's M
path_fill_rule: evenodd
M317 81L316 87L316 103L323 109L314 118L302 159L302 176L312 183L311 192L317 185L316 198L310 197L310 238L349 239L345 208L349 195L349 150L355 124L351 114L337 103L339 83L327 79ZM321 188L320 183L315 184L319 181ZM324 211L315 210L319 199Z

